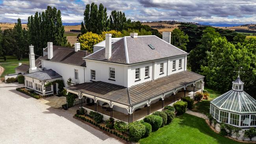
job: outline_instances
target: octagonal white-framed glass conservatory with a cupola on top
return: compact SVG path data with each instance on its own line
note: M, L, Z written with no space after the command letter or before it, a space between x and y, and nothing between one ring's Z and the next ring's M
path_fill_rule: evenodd
M210 102L210 114L218 122L241 128L256 127L256 100L243 91L239 75L232 83L232 90Z

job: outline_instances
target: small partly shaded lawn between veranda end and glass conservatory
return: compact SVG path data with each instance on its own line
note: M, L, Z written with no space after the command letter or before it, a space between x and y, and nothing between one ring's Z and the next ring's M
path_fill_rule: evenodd
M209 88L204 88L205 90L208 91L210 94L208 100L202 100L201 102L198 102L194 105L192 111L196 111L198 113L203 113L203 114L208 114L210 112L210 101L217 98L218 96L221 95L218 91L209 89Z

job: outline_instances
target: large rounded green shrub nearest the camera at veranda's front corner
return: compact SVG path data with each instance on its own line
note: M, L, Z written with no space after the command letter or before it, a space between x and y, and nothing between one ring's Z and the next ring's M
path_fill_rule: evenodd
M158 116L160 117L160 116ZM161 118L161 117L160 117ZM132 122L129 124L129 139L133 142L138 142L145 135L145 125L141 122Z

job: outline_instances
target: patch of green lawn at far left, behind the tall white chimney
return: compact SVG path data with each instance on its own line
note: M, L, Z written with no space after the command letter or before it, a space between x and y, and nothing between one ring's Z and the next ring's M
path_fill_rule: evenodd
M17 56L14 56L14 55L9 55L6 58L7 58L6 61L4 61L3 59L0 59L0 66L4 68L4 72L0 76L0 78L3 78L7 74L14 74L15 73L14 68L16 68L19 65L19 63L24 63L29 65L29 58L24 58L20 61L17 59Z

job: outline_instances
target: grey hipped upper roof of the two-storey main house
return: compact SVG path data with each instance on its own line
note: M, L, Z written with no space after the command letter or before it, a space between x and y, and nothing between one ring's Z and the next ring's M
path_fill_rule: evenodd
M152 50L148 44L154 46L155 49ZM112 55L109 62L133 64L187 54L155 35L138 36L137 38L123 37L112 44ZM85 59L108 61L105 59L105 48L88 55Z

